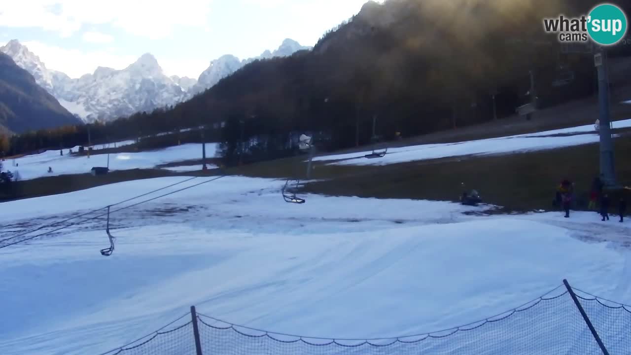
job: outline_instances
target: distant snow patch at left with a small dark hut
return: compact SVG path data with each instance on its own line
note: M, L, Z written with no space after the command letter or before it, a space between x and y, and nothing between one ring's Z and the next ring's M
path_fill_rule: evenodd
M120 145L126 145L129 141L119 142ZM133 143L133 141L131 141ZM215 156L215 143L206 143L206 157ZM72 148L73 152L78 147ZM109 155L110 170L127 170L127 169L150 169L156 165L167 164L171 162L179 162L182 160L201 159L201 144L183 144L165 149L151 150L138 153L115 153ZM57 176L64 174L86 174L94 166L107 166L107 154L86 156L68 155L68 150L64 149L64 155L59 155L59 150L49 150L44 153L27 155L5 162L4 169L10 170L14 174L17 171L20 179L28 180L41 178L43 176ZM13 166L13 164L18 166ZM52 168L52 172L48 172L48 167ZM213 169L213 165L208 166ZM169 170L178 169L178 167L169 167ZM180 167L179 171L191 171L193 167ZM199 165L201 170L201 165Z

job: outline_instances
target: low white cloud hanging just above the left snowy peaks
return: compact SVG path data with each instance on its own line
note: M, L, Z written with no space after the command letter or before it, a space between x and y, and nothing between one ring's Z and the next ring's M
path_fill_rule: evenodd
M28 50L40 57L49 69L68 74L71 78L94 73L97 66L124 69L136 61L134 56L121 56L111 50L85 52L77 49L64 49L42 42L24 42Z

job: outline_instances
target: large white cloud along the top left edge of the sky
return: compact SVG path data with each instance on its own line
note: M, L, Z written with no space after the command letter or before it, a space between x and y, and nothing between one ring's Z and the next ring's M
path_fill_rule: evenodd
M3 1L0 23L38 27L68 37L82 25L110 24L127 33L162 39L176 26L204 28L213 0Z

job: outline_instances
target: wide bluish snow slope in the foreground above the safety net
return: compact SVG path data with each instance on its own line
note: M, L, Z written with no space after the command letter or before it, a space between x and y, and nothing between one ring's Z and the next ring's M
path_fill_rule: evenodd
M0 239L184 179L3 203ZM225 177L116 212L109 258L98 252L109 245L103 219L0 248L1 352L99 354L193 304L272 332L367 339L483 320L564 278L631 301L631 228L613 218L465 215L485 207L321 195L295 205L282 186Z

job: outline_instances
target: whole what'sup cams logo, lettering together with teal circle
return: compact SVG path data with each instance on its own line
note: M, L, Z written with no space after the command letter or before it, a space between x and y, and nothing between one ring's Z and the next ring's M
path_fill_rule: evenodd
M558 33L559 42L587 42L589 39L600 45L613 45L627 33L627 15L612 4L599 4L588 15L577 18L543 19L543 29Z

